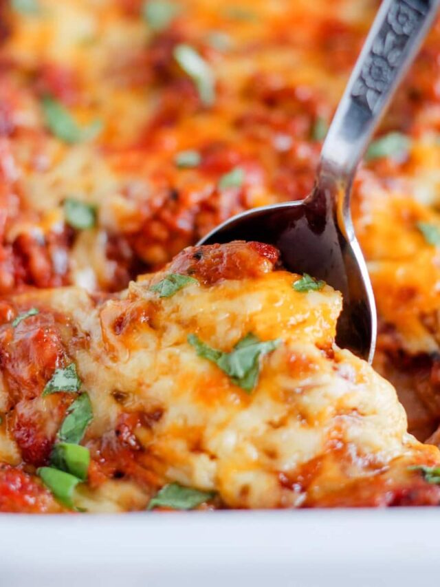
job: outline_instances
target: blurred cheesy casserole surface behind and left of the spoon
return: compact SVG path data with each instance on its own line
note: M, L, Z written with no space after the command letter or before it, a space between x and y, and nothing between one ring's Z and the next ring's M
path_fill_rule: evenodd
M358 46L374 12L364 0L355 10L347 0L331 9L325 0L246 0L239 8L180 0L177 17L155 32L137 0L38 4L32 13L3 11L3 246L19 270L0 273L0 290L23 282L117 290L139 266L163 265L236 212L302 198L319 150L314 124L331 116L353 61L339 35ZM338 67L329 68L329 35ZM179 43L195 47L213 72L210 108L177 65ZM74 145L60 140L45 125L45 94L80 126L100 120L101 133ZM176 167L184 149L201 152L197 169ZM219 193L221 175L237 165L243 186ZM67 197L98 207L92 246L100 254L88 257L87 239L67 231L57 238L60 266L50 243L66 230ZM45 256L44 277L28 262L29 248Z

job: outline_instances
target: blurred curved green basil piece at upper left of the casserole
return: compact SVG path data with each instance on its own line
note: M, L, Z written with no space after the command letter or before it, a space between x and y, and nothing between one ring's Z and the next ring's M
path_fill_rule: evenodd
M95 138L102 129L100 120L95 120L85 128L77 125L69 111L58 100L45 96L41 100L45 123L52 133L69 143L83 142Z

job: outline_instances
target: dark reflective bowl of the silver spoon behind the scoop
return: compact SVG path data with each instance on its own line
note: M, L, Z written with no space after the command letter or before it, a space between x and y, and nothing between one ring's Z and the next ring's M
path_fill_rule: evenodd
M336 196L337 197L337 196ZM375 347L376 312L364 257L353 230L333 220L335 195L326 189L311 198L263 206L223 222L201 244L232 240L261 241L280 250L283 267L308 273L342 292L337 343L371 361Z

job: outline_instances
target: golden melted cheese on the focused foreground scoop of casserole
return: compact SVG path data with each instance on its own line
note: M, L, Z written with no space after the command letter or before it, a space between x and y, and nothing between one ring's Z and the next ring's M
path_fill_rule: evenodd
M296 292L295 276L276 271L190 284L161 299L149 289L160 277L143 277L98 306L75 288L15 299L50 306L70 324L65 344L94 409L85 439L92 456L121 414L157 414L133 429L142 467L159 484L215 491L239 508L325 505L336 485L347 504L380 502L384 471L383 495L393 483L411 482L409 464L440 462L437 449L406 433L393 387L333 347L341 297L329 286ZM197 334L229 352L248 332L282 341L261 359L250 394L188 343ZM151 489L132 495L127 482L120 491L115 481L83 488L80 503L91 511L144 506ZM360 483L369 497L357 497Z

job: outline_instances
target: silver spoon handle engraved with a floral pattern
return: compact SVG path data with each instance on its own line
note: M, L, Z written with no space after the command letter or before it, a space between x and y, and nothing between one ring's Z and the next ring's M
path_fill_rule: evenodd
M327 133L320 173L351 181L439 3L440 0L382 2Z

